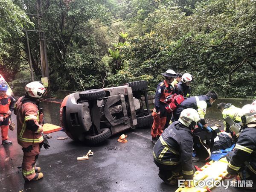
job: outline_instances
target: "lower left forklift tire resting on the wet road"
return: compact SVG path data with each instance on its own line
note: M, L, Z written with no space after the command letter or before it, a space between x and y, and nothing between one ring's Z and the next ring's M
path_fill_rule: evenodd
M111 131L109 128L100 129L101 133L98 135L86 135L84 141L90 145L96 145L107 140L111 136Z

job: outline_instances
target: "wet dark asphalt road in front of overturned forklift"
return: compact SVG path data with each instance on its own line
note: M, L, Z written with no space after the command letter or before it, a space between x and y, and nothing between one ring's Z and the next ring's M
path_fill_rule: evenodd
M53 119L58 116L52 117ZM15 115L12 115L16 121ZM24 182L21 169L23 153L17 144L16 130L9 131L12 145L0 144L0 192L87 192L87 191L175 191L158 177L153 161L150 128L126 131L128 143L118 143L120 134L112 136L99 146L73 142L63 131L52 133L51 147L42 148L37 166L44 178ZM66 140L57 140L67 137ZM89 160L77 161L91 149ZM197 163L199 167L204 163ZM222 192L223 188L212 189ZM226 191L244 191L229 188Z

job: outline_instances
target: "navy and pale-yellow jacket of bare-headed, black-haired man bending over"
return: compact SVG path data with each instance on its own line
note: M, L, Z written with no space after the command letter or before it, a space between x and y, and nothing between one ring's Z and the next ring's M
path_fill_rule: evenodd
M210 99L211 97L206 95L189 97L185 99L182 103L180 103L180 106L179 106L180 110L176 110L176 111L177 113L181 113L183 109L187 109L187 108L195 109L198 111L198 114L201 118L201 121L200 121L201 124L205 125L206 122L204 121L204 116L206 113L206 109L212 106L212 104L209 102Z

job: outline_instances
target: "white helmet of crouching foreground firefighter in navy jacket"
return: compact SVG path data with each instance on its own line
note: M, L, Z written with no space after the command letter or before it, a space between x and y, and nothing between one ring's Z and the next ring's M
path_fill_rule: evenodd
M196 123L200 121L200 116L195 109L184 109L180 113L179 122L188 128L195 128Z

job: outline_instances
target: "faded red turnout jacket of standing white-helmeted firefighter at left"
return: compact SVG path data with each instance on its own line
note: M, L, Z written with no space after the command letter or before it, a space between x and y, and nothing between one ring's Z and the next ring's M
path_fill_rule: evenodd
M43 116L39 115L35 99L20 97L15 104L15 114L17 115L17 140L22 147L26 148L44 141L41 134Z

